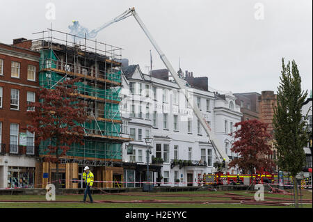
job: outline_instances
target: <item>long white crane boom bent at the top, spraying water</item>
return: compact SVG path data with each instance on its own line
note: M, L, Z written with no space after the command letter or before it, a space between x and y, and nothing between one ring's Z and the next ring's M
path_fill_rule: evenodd
M106 24L104 24L103 26L101 26L99 29L97 29L95 31L97 32L99 30L102 30L106 26L109 26L110 24L113 24L114 22L118 22L122 19L125 19L126 17L129 17L130 15L134 15L139 26L141 26L141 29L143 29L143 32L145 33L145 35L147 35L147 38L152 43L154 49L157 50L157 52L161 58L161 61L163 61L164 65L166 65L166 68L170 71L170 74L172 74L172 77L175 79L179 88L182 89L182 93L186 97L188 104L191 105L191 108L193 109L195 116L197 116L197 118L200 121L200 124L202 125L202 127L204 128L205 132L207 133L207 135L209 135L209 140L211 141L211 144L212 144L214 150L216 150L218 152L220 157L222 157L225 160L225 164L227 164L230 161L230 159L228 158L227 154L224 152L219 141L216 139L214 132L211 131L211 128L209 127L209 123L203 118L202 114L200 113L200 110L198 109L198 106L196 104L193 104L191 98L188 97L188 87L186 87L184 85L184 82L182 81L182 79L179 78L179 76L175 72L174 68L172 68L172 65L168 61L168 58L166 58L166 55L163 54L163 51L161 51L159 45L157 45L157 42L154 40L154 38L152 37L150 32L147 30L147 27L145 26L145 24L143 24L143 21L141 20L141 18L136 13L135 8L129 8L129 10L126 10L124 13L122 13L118 17L115 17L115 19L111 20L110 22L107 22ZM221 161L220 157L218 158L219 161ZM226 169L226 171L227 171L227 169Z

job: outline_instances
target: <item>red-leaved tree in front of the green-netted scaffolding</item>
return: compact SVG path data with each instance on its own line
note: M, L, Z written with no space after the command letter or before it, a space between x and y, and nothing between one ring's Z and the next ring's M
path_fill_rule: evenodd
M58 161L59 157L70 150L72 143L83 145L83 127L87 115L86 107L82 100L77 97L74 82L78 79L65 80L54 89L40 88L40 102L31 102L33 111L27 111L31 118L31 125L27 127L29 132L35 133L35 144L51 140L45 149L46 161L56 163L56 193L58 193Z

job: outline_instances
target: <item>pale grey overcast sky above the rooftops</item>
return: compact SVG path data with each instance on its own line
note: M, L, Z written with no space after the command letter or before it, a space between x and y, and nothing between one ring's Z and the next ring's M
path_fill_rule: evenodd
M47 19L47 3L56 6ZM281 59L294 59L303 90L312 89L312 0L0 0L0 42L31 38L50 27L70 32L72 20L89 30L135 7L173 67L209 77L209 86L232 93L277 91ZM259 4L258 4L259 3ZM147 73L165 68L138 26L128 17L104 29L97 41L122 47L129 64Z

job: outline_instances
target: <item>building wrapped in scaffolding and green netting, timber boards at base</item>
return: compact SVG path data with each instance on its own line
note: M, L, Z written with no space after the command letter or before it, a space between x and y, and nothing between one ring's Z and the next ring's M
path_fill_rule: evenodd
M83 166L89 166L96 180L122 181L122 143L129 141L128 135L120 134L121 59L122 49L96 40L79 38L75 35L49 29L42 37L33 40L31 49L40 52L39 84L55 88L66 79L79 78L77 95L83 100L88 113L88 122L83 124L84 145L74 143L65 157L61 157L60 176L63 187L83 187L70 180L79 179ZM47 157L46 148L54 145L51 140L40 144L40 157ZM120 166L120 167L116 167ZM35 184L45 187L54 180L55 164L38 164ZM46 173L45 178L42 175ZM95 184L112 187L112 183Z

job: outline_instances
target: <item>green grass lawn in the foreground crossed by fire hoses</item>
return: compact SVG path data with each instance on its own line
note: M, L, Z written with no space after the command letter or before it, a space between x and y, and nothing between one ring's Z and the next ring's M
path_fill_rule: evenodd
M160 196L162 194L176 195L176 194L188 194L188 195L222 195L225 193L236 193L244 196L254 196L254 193L248 193L246 191L190 191L190 192L162 192L162 193L127 193L134 196L119 196L110 194L95 194L93 200L231 200L229 197L203 197L203 196ZM136 196L136 195L155 195L155 196ZM279 197L289 198L291 196L275 194L275 193L264 193L265 197ZM312 200L312 193L309 191L303 191L303 199ZM242 205L242 204L188 204L188 203L1 203L1 200L46 200L45 196L34 196L34 195L3 195L0 196L0 208L294 208L291 206L280 207L280 206L266 206L266 205ZM83 195L63 195L56 196L56 200L83 200ZM87 198L87 200L89 200ZM300 197L299 197L300 200ZM312 208L312 204L303 204L303 208Z

